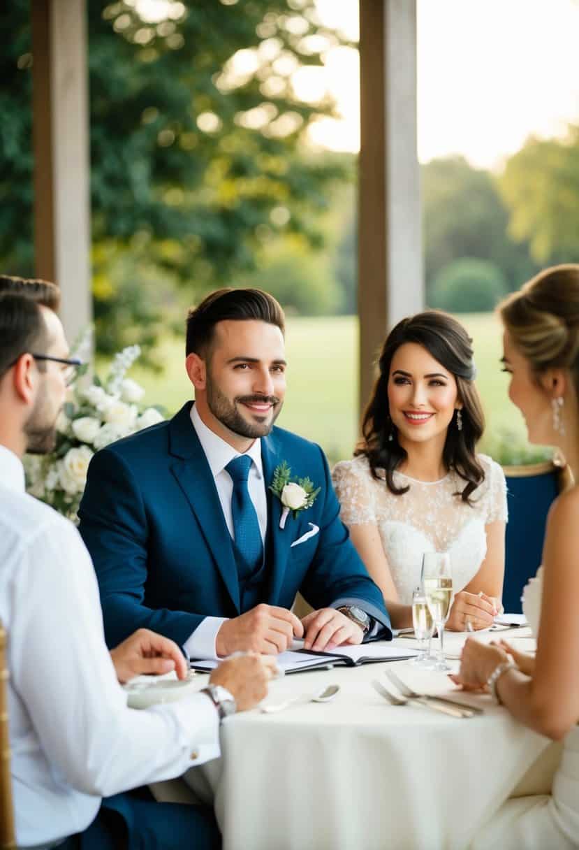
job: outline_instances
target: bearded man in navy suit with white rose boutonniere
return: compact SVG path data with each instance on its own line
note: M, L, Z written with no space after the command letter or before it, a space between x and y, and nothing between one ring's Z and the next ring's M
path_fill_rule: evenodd
M379 588L340 522L318 445L274 428L285 394L284 314L260 290L224 289L187 321L195 388L169 422L99 451L88 470L80 531L98 575L112 646L141 627L191 658L294 637L330 650L391 638ZM299 485L284 510L270 487L282 465ZM314 611L291 613L301 591Z

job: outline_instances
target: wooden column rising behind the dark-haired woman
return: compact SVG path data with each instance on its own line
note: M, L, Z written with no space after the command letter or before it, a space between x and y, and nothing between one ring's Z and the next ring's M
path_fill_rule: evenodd
M423 309L416 0L360 0L360 408L387 331Z

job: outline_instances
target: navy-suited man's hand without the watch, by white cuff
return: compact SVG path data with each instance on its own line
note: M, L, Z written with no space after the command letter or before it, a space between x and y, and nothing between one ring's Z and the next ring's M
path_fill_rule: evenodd
M239 651L278 655L303 633L301 622L291 611L261 603L223 623L217 632L216 652L220 656Z

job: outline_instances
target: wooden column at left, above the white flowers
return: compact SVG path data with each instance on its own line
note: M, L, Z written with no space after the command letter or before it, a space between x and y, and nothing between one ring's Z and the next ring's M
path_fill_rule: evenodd
M70 342L92 318L86 0L31 0L35 265Z

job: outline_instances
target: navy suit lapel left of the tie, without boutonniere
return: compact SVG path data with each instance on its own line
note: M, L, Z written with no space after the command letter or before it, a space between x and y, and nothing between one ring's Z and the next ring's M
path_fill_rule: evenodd
M171 473L183 490L191 510L199 521L207 547L222 575L229 596L238 612L239 577L228 526L223 516L211 468L191 422L191 402L171 420L169 451L174 457Z

